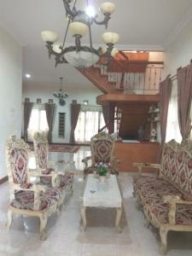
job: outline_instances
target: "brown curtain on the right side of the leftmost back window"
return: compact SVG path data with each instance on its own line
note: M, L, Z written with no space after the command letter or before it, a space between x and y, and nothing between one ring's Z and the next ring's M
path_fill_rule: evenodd
M48 141L49 141L49 143L51 143L52 142L53 121L54 121L54 117L55 117L55 104L45 103L44 108L45 108L45 112L46 112L47 123L49 126Z

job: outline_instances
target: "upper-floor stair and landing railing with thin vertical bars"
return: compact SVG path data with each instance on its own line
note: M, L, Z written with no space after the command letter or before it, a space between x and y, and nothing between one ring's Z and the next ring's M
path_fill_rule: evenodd
M126 70L121 68L122 71L116 73L108 72L108 67L101 64L97 64L96 67L100 67L102 75L108 75L109 82L116 84L116 90L123 90L127 94L151 95L159 93L163 62L129 61L127 65ZM137 72L143 66L145 66L143 72ZM131 72L127 72L129 67Z

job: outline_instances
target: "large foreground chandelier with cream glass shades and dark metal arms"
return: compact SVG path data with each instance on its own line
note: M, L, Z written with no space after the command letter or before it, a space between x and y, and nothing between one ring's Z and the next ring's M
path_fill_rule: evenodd
M78 0L62 0L67 15L67 30L64 35L63 43L56 43L59 35L57 32L44 31L41 37L46 44L51 55L55 56L55 67L61 63L69 63L73 67L91 67L104 57L104 64L108 64L113 55L117 53L114 44L119 41L119 34L115 32L104 32L102 40L107 47L95 49L92 43L91 25L104 25L108 28L108 20L114 12L115 5L110 2L102 3L100 11L104 15L103 20L97 20L98 15L94 14L94 9L86 0L86 10L76 9ZM75 38L75 45L66 47L67 32L70 31ZM81 45L81 38L89 34L89 46Z

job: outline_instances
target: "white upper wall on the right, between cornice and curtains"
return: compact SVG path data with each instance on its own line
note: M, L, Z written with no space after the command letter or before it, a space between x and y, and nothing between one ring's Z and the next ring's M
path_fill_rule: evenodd
M178 67L184 67L192 59L192 20L183 27L177 37L165 49L164 77L177 73Z

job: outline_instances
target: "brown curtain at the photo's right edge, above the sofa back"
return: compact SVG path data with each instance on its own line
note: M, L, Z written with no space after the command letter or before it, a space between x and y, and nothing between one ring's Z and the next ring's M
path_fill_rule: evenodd
M178 124L183 139L191 130L192 64L177 70Z

